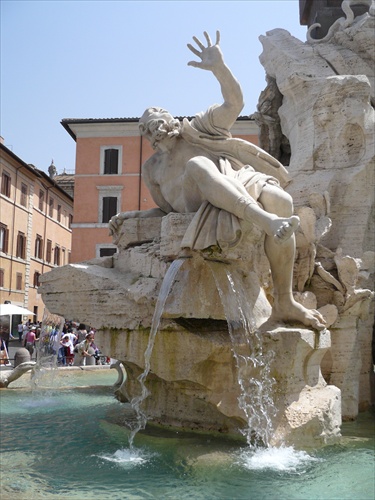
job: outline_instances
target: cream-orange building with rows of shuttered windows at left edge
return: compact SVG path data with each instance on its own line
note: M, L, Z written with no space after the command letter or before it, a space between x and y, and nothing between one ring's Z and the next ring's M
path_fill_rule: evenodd
M73 199L3 144L0 178L0 302L42 320L39 276L70 261Z

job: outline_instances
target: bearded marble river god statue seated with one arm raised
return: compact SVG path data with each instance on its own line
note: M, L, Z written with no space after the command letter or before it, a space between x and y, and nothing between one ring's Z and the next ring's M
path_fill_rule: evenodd
M207 46L196 37L199 50L188 44L201 61L188 64L213 73L224 102L183 123L162 108L145 111L139 128L156 153L142 173L159 209L120 213L111 219L110 233L118 233L121 223L133 217L197 212L182 242L183 248L194 250L237 244L241 222L254 223L266 234L264 249L274 287L271 320L298 321L322 330L321 314L297 303L292 294L299 219L293 216L292 198L280 186L286 170L266 151L231 138L229 130L244 106L241 87L224 62L220 33L214 45L204 35Z

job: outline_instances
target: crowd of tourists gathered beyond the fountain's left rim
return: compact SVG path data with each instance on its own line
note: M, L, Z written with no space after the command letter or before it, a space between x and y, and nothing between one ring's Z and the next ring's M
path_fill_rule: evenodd
M18 336L32 358L36 347L45 354L57 356L60 366L83 366L108 364L110 359L102 356L95 345L95 329L84 324L67 321L60 334L59 328L49 328L42 332L41 323L31 321L18 325Z

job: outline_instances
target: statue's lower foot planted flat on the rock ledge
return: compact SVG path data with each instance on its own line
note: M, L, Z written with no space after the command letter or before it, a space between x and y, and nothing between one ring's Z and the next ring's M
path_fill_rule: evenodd
M307 309L296 301L292 301L283 306L273 306L270 320L283 323L302 323L315 330L324 330L326 321L316 309Z

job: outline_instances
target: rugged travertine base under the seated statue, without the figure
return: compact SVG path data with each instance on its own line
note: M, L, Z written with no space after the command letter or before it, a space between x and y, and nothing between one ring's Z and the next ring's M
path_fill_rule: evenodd
M118 254L56 268L42 277L48 309L95 325L102 352L126 367L121 400L140 393L138 377L145 369L160 287L192 217L173 213L127 220ZM268 387L260 399L265 397L272 407L270 444L325 443L339 435L341 425L340 390L328 386L320 370L330 333L267 328L270 277L263 237L255 227L245 232L235 250L211 248L184 256L161 311L146 379L150 395L143 408L149 421L160 425L239 434L251 426L258 404L247 383L252 380L261 392L263 385ZM214 278L223 270L243 290L238 296L246 297L251 326L247 333L242 328L242 336L236 333L236 321L232 335L228 333L230 318ZM269 362L258 363L262 359Z

